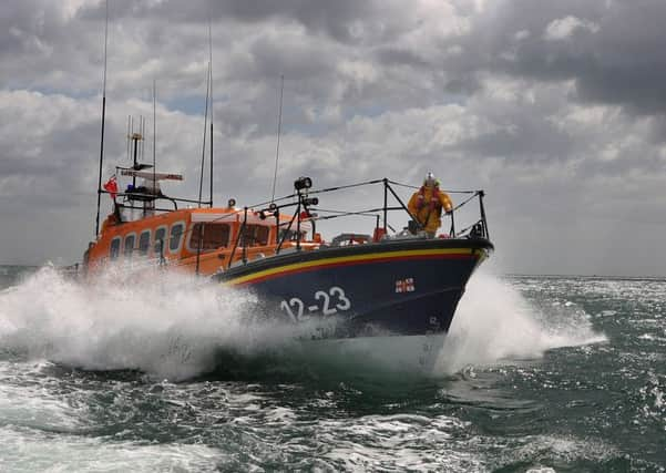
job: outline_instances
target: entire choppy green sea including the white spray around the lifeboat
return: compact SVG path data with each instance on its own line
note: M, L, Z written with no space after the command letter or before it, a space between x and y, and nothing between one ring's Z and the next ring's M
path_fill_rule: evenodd
M475 275L442 339L0 267L0 471L666 471L666 281Z

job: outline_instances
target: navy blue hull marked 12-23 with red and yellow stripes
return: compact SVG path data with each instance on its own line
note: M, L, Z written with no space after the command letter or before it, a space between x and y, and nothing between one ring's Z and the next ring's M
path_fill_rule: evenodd
M256 291L267 313L321 321L325 338L447 332L480 240L409 240L291 253L219 275Z

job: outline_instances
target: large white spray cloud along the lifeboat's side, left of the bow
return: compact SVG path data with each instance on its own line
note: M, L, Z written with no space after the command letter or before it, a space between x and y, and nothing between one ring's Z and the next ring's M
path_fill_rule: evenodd
M259 320L255 302L252 294L178 273L113 267L82 284L45 267L0 292L0 347L178 380L214 368L218 349L246 354L299 335Z

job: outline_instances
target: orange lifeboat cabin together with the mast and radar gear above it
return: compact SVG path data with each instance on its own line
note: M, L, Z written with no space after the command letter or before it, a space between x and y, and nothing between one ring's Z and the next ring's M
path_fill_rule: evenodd
M298 191L296 204L271 203L256 210L236 208L236 202L229 199L226 207L213 207L212 177L208 200L202 199L201 189L196 200L170 197L162 193L160 183L180 182L183 176L158 173L154 164L140 163L139 144L143 135L134 133L130 125L129 131L127 151L133 148L133 165L116 166L115 173L98 191L99 195L110 195L113 207L83 256L86 274L94 274L113 261L141 260L209 276L232 268L237 261L268 257L294 246L299 250L320 246L320 239L306 240L314 226L308 220L308 205L316 199L304 200ZM124 191L119 189L120 176L129 181ZM303 189L311 185L309 178L297 183L307 184ZM162 203L172 207L163 208ZM178 208L178 204L188 207ZM296 207L296 214L280 214L280 209L287 207ZM99 213L100 202L96 222Z

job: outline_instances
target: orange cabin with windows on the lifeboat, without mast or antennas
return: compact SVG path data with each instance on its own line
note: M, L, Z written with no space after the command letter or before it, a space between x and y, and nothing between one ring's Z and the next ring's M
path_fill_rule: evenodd
M186 208L119 222L109 215L98 241L89 247L84 261L94 273L110 261L144 258L154 264L213 275L234 266L274 255L296 245L303 249L319 247L305 240L309 225L301 223L300 234L289 227L291 216L266 218L259 212L227 208ZM287 233L287 235L285 235Z

